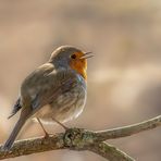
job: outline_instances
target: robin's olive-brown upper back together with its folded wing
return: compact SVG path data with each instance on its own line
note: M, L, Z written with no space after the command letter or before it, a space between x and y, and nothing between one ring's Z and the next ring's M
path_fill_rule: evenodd
M71 70L57 71L54 66L42 65L26 78L22 94L30 91L35 113L41 107L51 103L59 95L70 90L78 83L77 81L78 77Z

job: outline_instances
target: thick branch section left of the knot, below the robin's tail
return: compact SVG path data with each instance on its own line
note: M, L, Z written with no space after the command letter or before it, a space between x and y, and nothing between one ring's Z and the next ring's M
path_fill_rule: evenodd
M48 138L28 138L15 141L10 151L3 151L1 146L0 160L63 148L65 147L62 134L59 134L59 136L50 136Z

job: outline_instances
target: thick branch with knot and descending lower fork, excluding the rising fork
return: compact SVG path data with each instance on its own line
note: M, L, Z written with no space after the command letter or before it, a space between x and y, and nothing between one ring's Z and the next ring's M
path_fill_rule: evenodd
M92 135L89 135L88 132L81 128L70 128L64 134L60 133L58 136L53 135L47 138L38 137L15 141L10 151L0 151L0 160L69 148L71 150L90 150L110 161L120 159L122 161L134 161L127 154L108 144L96 144L96 148L94 148L92 143Z

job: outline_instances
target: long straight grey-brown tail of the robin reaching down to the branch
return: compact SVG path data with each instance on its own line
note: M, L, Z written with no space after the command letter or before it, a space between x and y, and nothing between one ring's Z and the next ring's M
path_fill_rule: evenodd
M24 125L24 123L25 123L25 119L20 119L17 121L17 123L15 124L15 126L14 126L10 137L8 138L8 140L5 141L4 146L2 147L2 149L4 151L8 151L8 150L11 149L11 147L12 147L12 145L13 145L13 143L14 143L18 132L21 131L22 126Z

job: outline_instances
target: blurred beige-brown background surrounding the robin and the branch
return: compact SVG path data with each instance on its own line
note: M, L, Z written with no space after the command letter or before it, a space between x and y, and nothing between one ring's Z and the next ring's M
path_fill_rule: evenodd
M18 114L7 117L22 81L61 45L95 53L88 62L86 108L69 127L106 129L161 113L160 0L0 0L0 143L17 120ZM32 122L18 138L42 134ZM137 160L160 161L160 134L159 127L109 143ZM12 160L106 161L88 151L69 150Z

